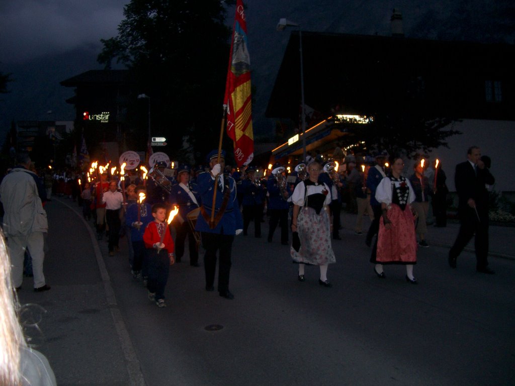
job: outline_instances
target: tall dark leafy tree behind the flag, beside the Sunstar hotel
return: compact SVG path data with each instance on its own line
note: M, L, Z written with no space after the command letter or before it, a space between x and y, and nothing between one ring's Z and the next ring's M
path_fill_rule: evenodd
M131 71L136 95L151 100L152 135L165 136L175 156L183 136L205 153L216 143L229 55L230 29L220 0L131 0L118 36L101 40L98 62ZM133 109L134 127L146 127ZM143 142L145 143L145 142Z

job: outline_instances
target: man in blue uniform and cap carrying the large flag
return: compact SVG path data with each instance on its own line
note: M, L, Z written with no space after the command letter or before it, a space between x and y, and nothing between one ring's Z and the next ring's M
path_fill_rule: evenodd
M211 151L208 154L208 162L211 170L200 173L197 177L202 205L195 227L195 230L201 234L202 247L205 249L205 289L214 290L216 252L218 251L218 293L226 299L234 299L234 295L229 291L229 273L234 236L243 232L242 214L236 199L236 183L233 178L222 174L225 168L225 152L221 152L218 162L218 151Z

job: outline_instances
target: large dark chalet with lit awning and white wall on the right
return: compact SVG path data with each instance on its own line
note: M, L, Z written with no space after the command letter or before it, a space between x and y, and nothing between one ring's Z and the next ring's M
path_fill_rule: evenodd
M302 31L306 150L332 154L336 144L359 144L353 132L389 112L453 119L462 134L435 149L454 190L454 166L477 145L491 156L495 189L515 192L505 154L515 144L515 46L358 36ZM301 106L299 32L293 32L274 84L266 116L299 128ZM356 129L359 125L359 129ZM286 124L286 126L288 126ZM299 137L294 137L299 134ZM274 159L302 158L302 132L286 133ZM351 142L349 142L351 141ZM361 144L366 148L367 144ZM348 147L349 148L349 147ZM406 173L413 169L406 166Z

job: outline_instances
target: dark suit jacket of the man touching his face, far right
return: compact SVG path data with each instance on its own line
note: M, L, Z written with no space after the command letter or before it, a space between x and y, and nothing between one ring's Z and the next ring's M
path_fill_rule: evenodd
M493 185L495 179L488 168L479 169L477 173L469 161L456 165L454 183L458 193L458 215L460 219L476 218L475 210L467 202L473 199L480 218L488 218L488 190L485 184Z

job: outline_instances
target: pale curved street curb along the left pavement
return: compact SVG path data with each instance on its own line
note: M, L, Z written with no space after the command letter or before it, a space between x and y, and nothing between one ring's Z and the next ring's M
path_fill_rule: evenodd
M84 226L88 230L88 233L91 238L91 243L93 245L93 251L95 253L95 257L97 260L98 269L100 270L102 284L104 285L106 300L111 311L111 316L113 318L114 326L116 328L116 334L118 335L118 339L120 341L122 351L124 353L125 362L127 364L129 386L146 386L143 373L141 372L140 361L138 360L138 356L136 356L134 345L132 344L132 340L129 336L129 331L127 330L124 319L122 317L122 313L120 312L118 304L116 303L116 296L111 285L111 278L109 277L109 273L107 272L106 263L104 261L104 257L102 256L102 253L100 252L100 246L98 245L98 241L96 239L96 235L94 234L92 227L86 220L84 220L82 215L78 213L73 207L59 199L53 198L52 200L57 201L62 205L70 208L72 212L79 217L79 219L83 222Z

